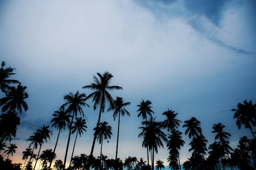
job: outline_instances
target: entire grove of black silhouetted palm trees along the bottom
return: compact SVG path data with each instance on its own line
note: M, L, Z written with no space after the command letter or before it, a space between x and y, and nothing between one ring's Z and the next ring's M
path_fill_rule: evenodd
M25 160L23 168L22 164L12 164L10 162L9 155L13 155L16 152L17 146L11 144L7 147L5 141L10 141L12 137L16 136L17 126L20 124L20 118L17 116L17 112L22 113L22 109L25 111L28 109L25 99L28 97L25 92L26 87L21 86L21 83L17 80L9 79L13 73L14 68L4 68L5 62L2 62L2 68L0 69L0 89L4 93L5 97L0 99L0 106L2 106L2 115L0 115L0 151L4 150L7 159L4 161L0 155L0 166L8 167L7 169L25 169L35 170L36 164L40 160L39 166L43 170L50 170L52 167L57 170L150 170L163 169L164 162L162 160L154 161L155 154L158 152L158 148L164 148L166 146L169 156L167 161L169 162L169 168L172 170L220 170L220 169L241 169L241 170L253 170L255 169L256 162L256 137L253 127L256 126L256 104L252 104L252 101L247 102L245 100L243 104L238 104L234 111L234 119L240 129L243 125L248 128L253 135L252 139L244 136L240 138L238 148L231 148L229 146L229 137L231 134L224 132L225 126L221 123L213 125L213 133L216 133L215 140L207 147L208 140L205 139L202 134L202 128L200 127L200 121L195 117L189 120L185 120L182 128L186 128L185 135L188 135L191 142L189 146L189 152L191 157L184 163L180 163L180 149L184 146L185 142L182 140L182 132L178 129L182 121L178 120L177 114L173 110L167 110L162 115L166 116L164 121L157 121L154 114L152 103L149 100L142 100L138 107L138 117L142 117L142 126L139 127L141 133L138 137L142 139L142 147L146 148L147 161L140 158L138 161L136 157L128 157L124 161L118 158L118 143L119 143L119 126L121 116L130 116L126 106L130 105L130 102L124 102L122 97L117 97L115 100L110 95L109 91L121 90L120 86L110 86L112 74L105 72L102 75L97 73L98 78L93 76L93 83L82 88L90 89L93 92L86 96L85 93L75 94L69 93L64 96L65 103L54 112L51 120L52 127L58 129L58 136L54 150L46 149L40 153L41 146L47 139L50 139L52 130L49 130L50 126L43 125L40 129L31 135L27 141L30 141L29 148L22 152L22 159ZM9 86L10 84L18 84L17 88ZM77 140L77 136L86 132L86 120L83 118L84 106L90 107L85 102L88 99L92 99L94 102L94 110L99 107L99 117L97 124L94 128L94 139L92 143L92 149L90 155L81 154L80 156L74 156L74 149ZM112 135L112 128L108 125L108 122L101 121L101 114L105 111L106 104L109 104L108 111L113 111L113 118L118 118L118 130L117 130L117 145L115 159L108 159L107 156L102 154L102 146L104 140L109 140ZM6 113L4 113L6 112ZM78 115L79 114L79 115ZM56 146L62 130L68 128L69 135L67 139L67 148L65 151L64 161L58 159L52 166L52 162L56 159ZM67 166L68 148L70 145L71 134L76 134L74 140L74 146L71 154L70 165ZM95 158L93 156L95 142L98 141L101 144L100 156ZM32 147L33 146L33 147ZM38 147L39 146L39 147ZM7 150L5 150L7 148ZM34 150L38 149L37 155L34 154ZM208 151L208 152L207 152ZM35 159L35 164L32 162ZM27 162L27 163L26 163ZM149 164L151 162L151 165ZM155 163L155 165L154 165ZM11 165L11 168L10 168ZM34 168L33 168L34 166Z

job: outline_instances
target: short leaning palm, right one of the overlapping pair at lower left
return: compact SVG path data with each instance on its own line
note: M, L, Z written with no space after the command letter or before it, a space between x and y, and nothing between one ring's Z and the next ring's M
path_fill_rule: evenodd
M52 130L49 130L50 126L43 126L41 127L40 129L36 130L36 132L38 132L38 143L40 145L40 148L39 148L39 151L38 151L38 154L37 154L37 158L36 158L36 162L38 160L38 157L39 157L39 153L40 153L40 150L41 150L41 147L42 147L42 144L44 143L43 140L45 139L45 142L47 142L47 138L50 139L50 135L52 135ZM35 163L35 166L34 166L34 170L36 168L36 163Z

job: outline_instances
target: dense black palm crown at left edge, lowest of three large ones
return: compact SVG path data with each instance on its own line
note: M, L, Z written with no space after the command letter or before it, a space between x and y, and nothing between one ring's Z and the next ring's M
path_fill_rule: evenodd
M16 111L8 111L0 115L0 142L9 140L16 136L17 126L20 124L20 117Z

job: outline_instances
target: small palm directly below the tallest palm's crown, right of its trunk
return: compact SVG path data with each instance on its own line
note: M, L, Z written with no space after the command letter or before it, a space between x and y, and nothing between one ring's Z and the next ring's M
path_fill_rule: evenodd
M111 139L111 126L108 126L108 122L103 121L99 124L98 128L94 128L95 133L94 135L97 136L97 141L101 144L101 157L102 157L102 144L103 144L103 137L104 139Z

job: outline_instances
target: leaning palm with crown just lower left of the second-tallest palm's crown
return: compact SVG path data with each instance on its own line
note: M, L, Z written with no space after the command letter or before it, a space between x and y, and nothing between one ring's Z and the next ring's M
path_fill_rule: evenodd
M52 114L54 118L52 118L51 123L52 127L57 127L59 129L58 131L58 137L60 136L61 130L65 130L66 125L70 122L71 115L65 110L64 107L60 107L59 110L55 111L54 114ZM58 143L58 137L56 140L56 144L54 146L53 152L55 153L57 143ZM49 168L52 166L52 161L50 162Z

